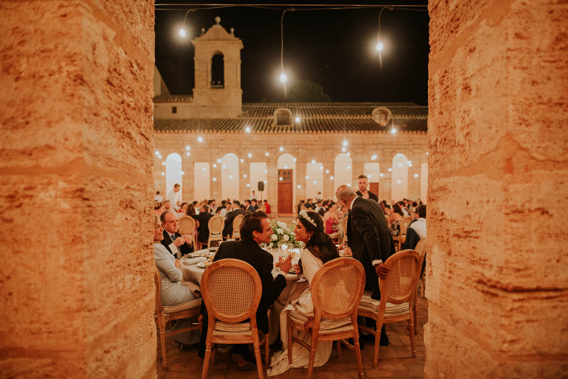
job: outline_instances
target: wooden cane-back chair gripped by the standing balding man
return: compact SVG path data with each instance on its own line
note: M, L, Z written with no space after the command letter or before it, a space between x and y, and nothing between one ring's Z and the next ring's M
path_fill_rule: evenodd
M420 255L411 249L391 255L385 262L385 266L390 268L389 274L385 279L379 278L381 300L371 299L370 290L366 290L361 298L358 314L377 320L376 330L366 325L359 325L361 330L375 336L373 368L377 367L381 328L386 323L408 320L412 356L416 357L414 313L411 310L411 302L420 276L419 264Z

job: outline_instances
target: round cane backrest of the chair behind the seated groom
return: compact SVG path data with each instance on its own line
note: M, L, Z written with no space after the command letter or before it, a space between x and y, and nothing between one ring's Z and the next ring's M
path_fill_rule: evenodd
M201 294L210 316L223 322L256 320L262 296L258 273L245 261L220 259L201 278Z

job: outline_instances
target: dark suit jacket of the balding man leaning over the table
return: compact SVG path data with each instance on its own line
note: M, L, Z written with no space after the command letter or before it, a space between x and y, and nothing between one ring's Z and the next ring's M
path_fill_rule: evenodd
M381 298L379 277L372 262L381 259L384 263L395 253L395 247L378 202L362 197L355 199L347 220L347 239L353 258L365 268L365 288L373 290L372 298Z

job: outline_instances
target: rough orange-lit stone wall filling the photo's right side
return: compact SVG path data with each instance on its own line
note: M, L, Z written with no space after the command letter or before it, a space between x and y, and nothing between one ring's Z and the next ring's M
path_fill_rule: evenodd
M429 12L425 377L567 377L568 3Z

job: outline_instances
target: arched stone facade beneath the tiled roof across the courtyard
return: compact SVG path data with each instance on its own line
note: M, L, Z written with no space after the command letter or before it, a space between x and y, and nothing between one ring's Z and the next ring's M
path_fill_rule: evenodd
M220 165L213 168L212 164L217 159L221 159L226 153L235 153L239 159L244 159L244 163L239 165L240 176L240 196L241 200L248 198L254 188L247 188L250 174L250 162L265 162L268 166L268 193L264 195L269 200L271 211L277 213L278 205L278 171L277 161L282 154L291 154L296 158L295 185L300 185L300 189L294 187L294 202L298 199L315 197L315 193L306 193L306 164L312 159L323 163L324 166L324 186L322 195L324 198L335 198L335 181L331 180L334 176L335 157L341 153L344 140L343 134L307 134L307 133L201 133L203 143L197 142L197 134L187 132L156 132L154 134L154 147L162 156L161 159L154 155L154 186L160 193L166 194L165 176L162 161L170 153L178 153L182 157L182 169L185 173L182 182L183 201L193 201L201 199L194 198L194 163L209 162L211 168L210 186L211 198L220 199L221 181ZM408 197L417 199L420 197L420 166L427 161L427 135L424 133L400 132L393 138L389 133L349 133L345 135L349 141L350 157L353 161L352 185L356 185L357 177L363 173L365 162L373 162L370 157L377 154L380 170L383 177L370 178L369 181L379 181L379 198L390 201L391 198L391 174L388 168L392 165L392 157L396 153L404 153L412 161L412 167L408 168ZM190 156L186 155L186 146L191 147ZM284 151L279 151L280 146ZM252 158L248 153L252 153ZM265 153L269 152L266 157ZM329 173L325 170L329 169ZM418 174L415 177L415 174ZM212 178L216 177L216 181ZM260 194L259 194L260 195ZM401 200L401 199L396 199Z

